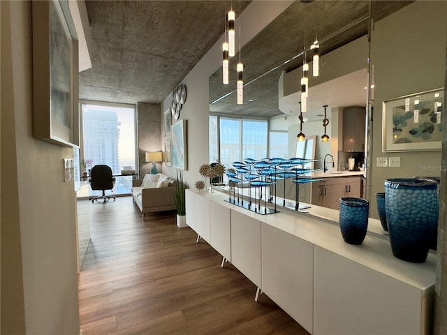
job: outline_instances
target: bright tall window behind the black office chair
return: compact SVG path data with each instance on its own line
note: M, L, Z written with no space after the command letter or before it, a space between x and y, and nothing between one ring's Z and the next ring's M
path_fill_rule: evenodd
M136 170L135 106L94 102L81 105L84 139L81 158L92 162L87 169L105 164L112 168L113 174L121 174L125 166ZM114 193L131 193L131 188L131 176L116 177Z

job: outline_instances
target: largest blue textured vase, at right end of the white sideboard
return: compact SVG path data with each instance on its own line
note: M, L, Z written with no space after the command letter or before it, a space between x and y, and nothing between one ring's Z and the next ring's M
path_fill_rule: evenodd
M437 182L386 179L385 209L393 255L408 262L425 262L437 230Z

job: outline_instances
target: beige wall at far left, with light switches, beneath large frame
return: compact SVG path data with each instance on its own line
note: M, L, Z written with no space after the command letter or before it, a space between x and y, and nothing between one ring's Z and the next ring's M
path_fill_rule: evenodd
M1 334L79 334L73 150L32 137L31 2L1 1Z

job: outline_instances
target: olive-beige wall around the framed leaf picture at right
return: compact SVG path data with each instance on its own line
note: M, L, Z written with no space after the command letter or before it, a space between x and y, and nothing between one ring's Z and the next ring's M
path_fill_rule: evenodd
M416 1L375 24L371 62L374 65L374 123L370 215L378 218L374 193L388 178L440 176L440 151L382 152L382 101L444 87L447 2ZM401 168L377 168L376 157L400 156Z

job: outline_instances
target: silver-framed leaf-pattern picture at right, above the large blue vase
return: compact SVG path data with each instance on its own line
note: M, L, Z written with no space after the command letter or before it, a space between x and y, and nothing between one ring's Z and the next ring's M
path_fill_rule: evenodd
M382 151L441 150L444 88L382 103Z

